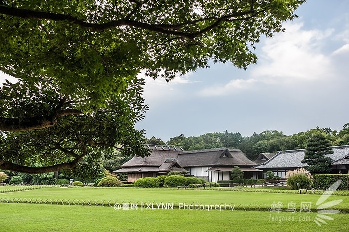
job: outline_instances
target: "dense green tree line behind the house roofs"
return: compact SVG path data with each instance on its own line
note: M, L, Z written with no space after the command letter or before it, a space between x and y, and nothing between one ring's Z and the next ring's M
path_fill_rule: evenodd
M147 139L148 144L180 146L184 150L199 150L218 147L239 148L248 158L255 160L259 153L275 153L281 150L304 149L307 140L314 134L323 134L332 146L349 145L349 123L340 131L331 128L319 128L299 132L290 136L281 131L266 130L259 134L253 133L250 137L244 137L239 132L215 132L200 136L185 137L183 134L170 138L164 142L159 138Z

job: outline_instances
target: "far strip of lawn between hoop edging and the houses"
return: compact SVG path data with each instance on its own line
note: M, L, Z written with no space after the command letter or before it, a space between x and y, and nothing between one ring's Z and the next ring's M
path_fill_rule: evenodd
M239 191L208 191L208 190L177 190L177 189L138 189L138 188L45 188L22 192L0 194L0 198L34 198L34 199L66 199L66 200L113 200L118 202L154 202L154 203L193 203L199 204L231 204L236 206L271 208L273 203L296 203L297 209L302 202L312 202L315 210L316 202L321 195L258 193ZM349 196L330 196L327 201L342 199L334 206L335 209L349 209Z

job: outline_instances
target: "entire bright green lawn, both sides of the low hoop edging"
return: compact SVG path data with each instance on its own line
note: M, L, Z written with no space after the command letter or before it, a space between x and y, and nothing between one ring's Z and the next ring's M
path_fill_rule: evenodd
M44 188L20 192L1 193L4 198L114 200L118 202L144 202L144 207L117 208L0 203L0 231L349 231L349 214L332 214L318 226L314 219L319 214L300 212L302 202L311 202L315 211L321 195L256 193L237 191L205 191L177 189L137 188ZM349 209L348 196L330 196L325 202L342 199L335 208ZM154 203L230 204L247 206L288 203L297 206L295 213L277 211L157 209L146 207Z

